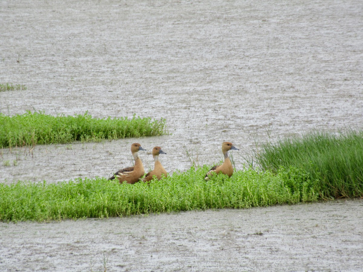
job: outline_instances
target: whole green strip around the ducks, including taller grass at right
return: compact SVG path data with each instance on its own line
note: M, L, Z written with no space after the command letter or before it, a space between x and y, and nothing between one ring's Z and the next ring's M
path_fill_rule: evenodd
M0 221L103 218L187 210L247 208L363 197L363 133L314 132L268 143L259 168L204 180L209 166L174 172L147 185L106 178L0 184ZM251 163L252 165L252 163Z

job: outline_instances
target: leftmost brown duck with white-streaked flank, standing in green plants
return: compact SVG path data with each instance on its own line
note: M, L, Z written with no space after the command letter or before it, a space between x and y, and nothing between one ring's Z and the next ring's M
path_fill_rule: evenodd
M139 178L145 174L144 166L138 155L139 151L146 151L146 149L143 149L139 143L133 143L131 145L131 153L135 159L134 166L118 170L112 177L109 178L109 180L114 180L117 178L120 183L126 181L129 184L138 182Z

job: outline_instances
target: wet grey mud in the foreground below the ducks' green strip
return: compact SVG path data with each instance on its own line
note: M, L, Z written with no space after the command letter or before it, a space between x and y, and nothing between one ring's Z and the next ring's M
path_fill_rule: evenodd
M362 211L352 200L0 223L0 270L362 271Z

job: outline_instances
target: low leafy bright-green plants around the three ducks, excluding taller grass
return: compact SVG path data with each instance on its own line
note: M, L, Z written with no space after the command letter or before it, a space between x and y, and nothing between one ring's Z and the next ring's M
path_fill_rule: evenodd
M318 193L305 172L290 168L276 174L245 169L231 178L205 182L208 166L174 173L150 185L88 178L58 184L0 184L1 221L49 221L219 208L246 208L316 201Z

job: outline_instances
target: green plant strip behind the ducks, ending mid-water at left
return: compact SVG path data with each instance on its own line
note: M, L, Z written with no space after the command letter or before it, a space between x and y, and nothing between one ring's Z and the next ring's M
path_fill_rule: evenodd
M97 119L87 112L76 116L51 116L29 111L15 116L0 113L0 147L157 136L165 133L165 127L165 119L151 120L135 115L131 119Z

